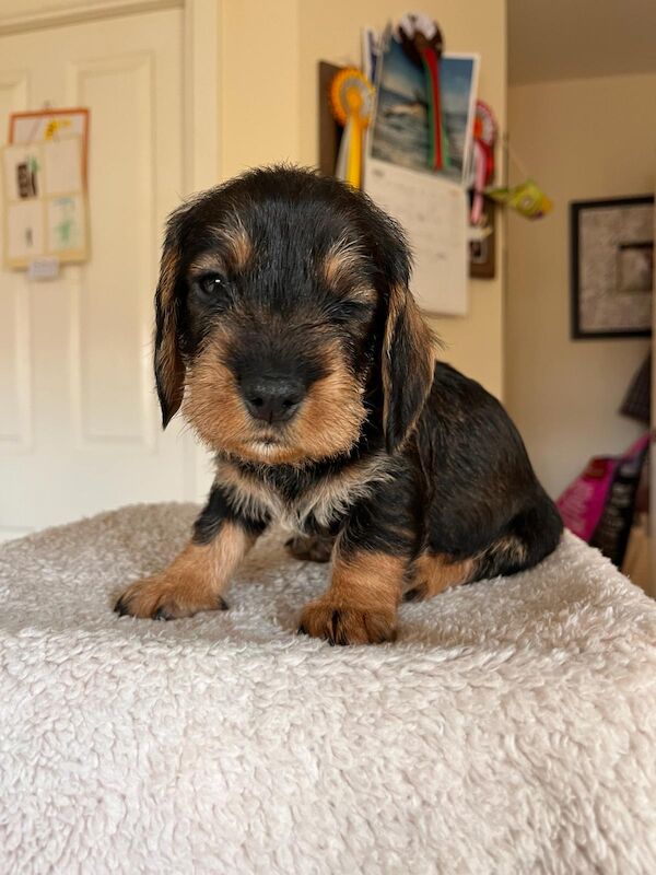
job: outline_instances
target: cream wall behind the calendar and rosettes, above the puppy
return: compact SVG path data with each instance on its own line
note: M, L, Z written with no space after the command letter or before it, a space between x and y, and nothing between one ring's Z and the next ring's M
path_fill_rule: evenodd
M360 26L383 27L406 0L224 0L222 27L222 166L247 166L317 154L317 61L360 63ZM424 0L447 48L481 55L480 96L505 128L505 0ZM501 254L501 240L499 241ZM435 320L444 358L495 394L503 385L502 265L493 281L471 282L468 317Z

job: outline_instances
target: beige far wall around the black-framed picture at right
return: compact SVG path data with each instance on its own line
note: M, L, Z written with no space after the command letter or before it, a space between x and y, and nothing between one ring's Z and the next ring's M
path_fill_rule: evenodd
M570 340L567 205L654 191L656 75L511 88L508 130L555 208L508 217L506 404L557 495L591 455L642 431L617 410L648 341Z

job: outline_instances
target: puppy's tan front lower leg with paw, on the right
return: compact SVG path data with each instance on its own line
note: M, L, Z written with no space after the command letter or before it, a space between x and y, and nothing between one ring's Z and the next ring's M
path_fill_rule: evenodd
M406 567L387 553L338 549L330 587L303 609L298 631L330 644L393 641Z

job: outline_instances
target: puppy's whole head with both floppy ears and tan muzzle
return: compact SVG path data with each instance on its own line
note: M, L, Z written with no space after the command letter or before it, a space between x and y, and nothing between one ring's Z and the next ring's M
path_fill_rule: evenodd
M389 452L433 378L401 230L313 173L251 171L171 217L155 295L164 425L266 464L338 456L367 423Z

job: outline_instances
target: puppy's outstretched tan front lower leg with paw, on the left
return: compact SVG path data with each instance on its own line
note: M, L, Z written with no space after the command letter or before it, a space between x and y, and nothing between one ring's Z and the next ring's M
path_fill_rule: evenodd
M221 593L255 540L237 523L224 521L208 544L189 541L164 571L128 586L115 610L155 620L225 610Z

